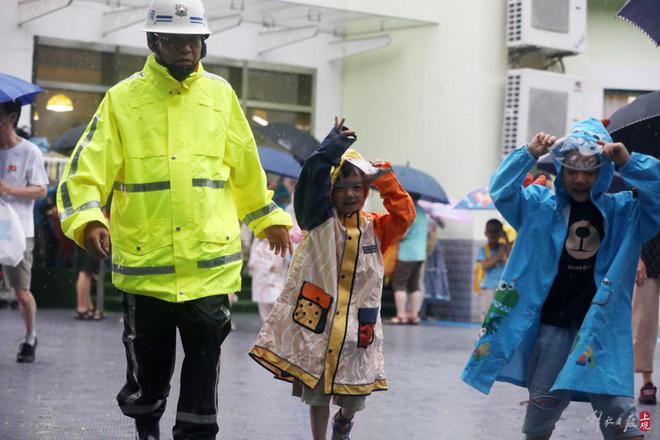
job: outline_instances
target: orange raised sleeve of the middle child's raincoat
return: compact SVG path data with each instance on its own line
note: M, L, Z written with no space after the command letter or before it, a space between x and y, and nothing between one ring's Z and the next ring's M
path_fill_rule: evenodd
M374 232L380 240L380 251L385 250L403 237L415 220L415 204L410 195L401 187L394 172L380 176L373 183L387 213L371 213L374 222Z

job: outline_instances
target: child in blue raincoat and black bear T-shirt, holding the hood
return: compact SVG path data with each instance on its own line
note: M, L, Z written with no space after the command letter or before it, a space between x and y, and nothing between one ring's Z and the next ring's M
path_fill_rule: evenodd
M551 148L555 193L522 186ZM636 192L607 194L614 168ZM642 243L660 228L660 161L629 154L587 119L566 138L538 133L491 179L518 231L463 380L527 387L523 432L548 439L571 400L590 401L608 439L643 438L633 400L631 297Z

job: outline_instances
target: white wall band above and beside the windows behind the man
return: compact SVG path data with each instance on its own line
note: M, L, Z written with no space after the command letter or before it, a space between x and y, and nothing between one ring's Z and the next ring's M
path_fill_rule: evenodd
M101 17L107 7L95 2L77 0L72 6L56 11L19 27L18 1L3 0L0 14L0 72L26 80L32 79L33 37L55 37L89 43L107 43L146 48L146 38L135 25L103 37ZM146 10L145 10L146 14ZM333 38L321 34L297 45L273 50L263 56L258 53L259 29L244 24L233 30L213 35L208 40L209 56L288 64L316 69L317 103L314 127L317 136L324 136L341 107L342 63L329 63L323 47ZM28 112L23 112L21 125L28 125Z

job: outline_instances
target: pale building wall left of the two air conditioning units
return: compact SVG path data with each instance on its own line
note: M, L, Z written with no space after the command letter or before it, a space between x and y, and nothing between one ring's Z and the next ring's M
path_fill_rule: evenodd
M390 47L345 62L344 114L367 156L410 162L460 198L487 185L499 161L505 1L437 0L420 9L438 26L396 32ZM443 235L482 238L494 214L448 222Z

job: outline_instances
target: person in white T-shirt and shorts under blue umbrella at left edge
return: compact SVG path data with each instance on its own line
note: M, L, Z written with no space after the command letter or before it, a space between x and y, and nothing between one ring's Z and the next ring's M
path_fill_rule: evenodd
M25 339L17 362L34 362L37 349L37 303L30 291L34 248L34 201L46 197L48 176L39 147L16 134L21 107L34 100L41 89L10 75L0 74L0 199L21 221L25 253L16 267L3 266L5 282L16 292L25 323Z

